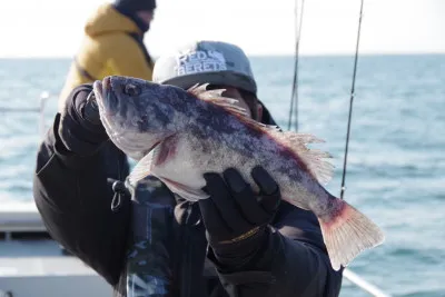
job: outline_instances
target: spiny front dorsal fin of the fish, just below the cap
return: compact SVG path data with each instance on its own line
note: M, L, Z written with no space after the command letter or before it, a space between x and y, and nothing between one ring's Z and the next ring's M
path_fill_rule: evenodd
M207 102L224 107L226 110L231 111L238 116L243 116L248 118L248 112L245 108L237 106L236 103L238 100L233 98L222 97L222 92L225 89L217 89L217 90L206 90L209 83L204 85L195 85L194 87L189 88L187 91L198 99L205 100Z

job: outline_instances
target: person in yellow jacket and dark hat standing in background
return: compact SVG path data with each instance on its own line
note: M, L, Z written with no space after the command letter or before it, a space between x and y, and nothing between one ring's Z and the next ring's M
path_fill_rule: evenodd
M101 4L85 27L85 38L59 96L59 111L73 88L107 76L151 80L155 61L142 40L156 0L115 0Z

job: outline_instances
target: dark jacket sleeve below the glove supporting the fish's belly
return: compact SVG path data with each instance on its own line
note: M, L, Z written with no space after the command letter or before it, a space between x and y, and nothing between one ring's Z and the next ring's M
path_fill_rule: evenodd
M283 202L268 242L249 267L224 271L209 249L230 297L339 295L342 270L335 271L314 214Z

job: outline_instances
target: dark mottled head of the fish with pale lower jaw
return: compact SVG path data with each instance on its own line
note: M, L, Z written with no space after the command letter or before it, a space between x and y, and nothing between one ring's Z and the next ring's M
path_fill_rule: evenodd
M184 126L185 117L177 107L180 90L121 76L93 83L100 119L110 140L137 160Z

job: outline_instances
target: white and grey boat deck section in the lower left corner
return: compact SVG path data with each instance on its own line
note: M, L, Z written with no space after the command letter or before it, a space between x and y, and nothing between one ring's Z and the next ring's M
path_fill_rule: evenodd
M109 297L112 289L48 237L33 205L19 205L0 210L0 296Z

